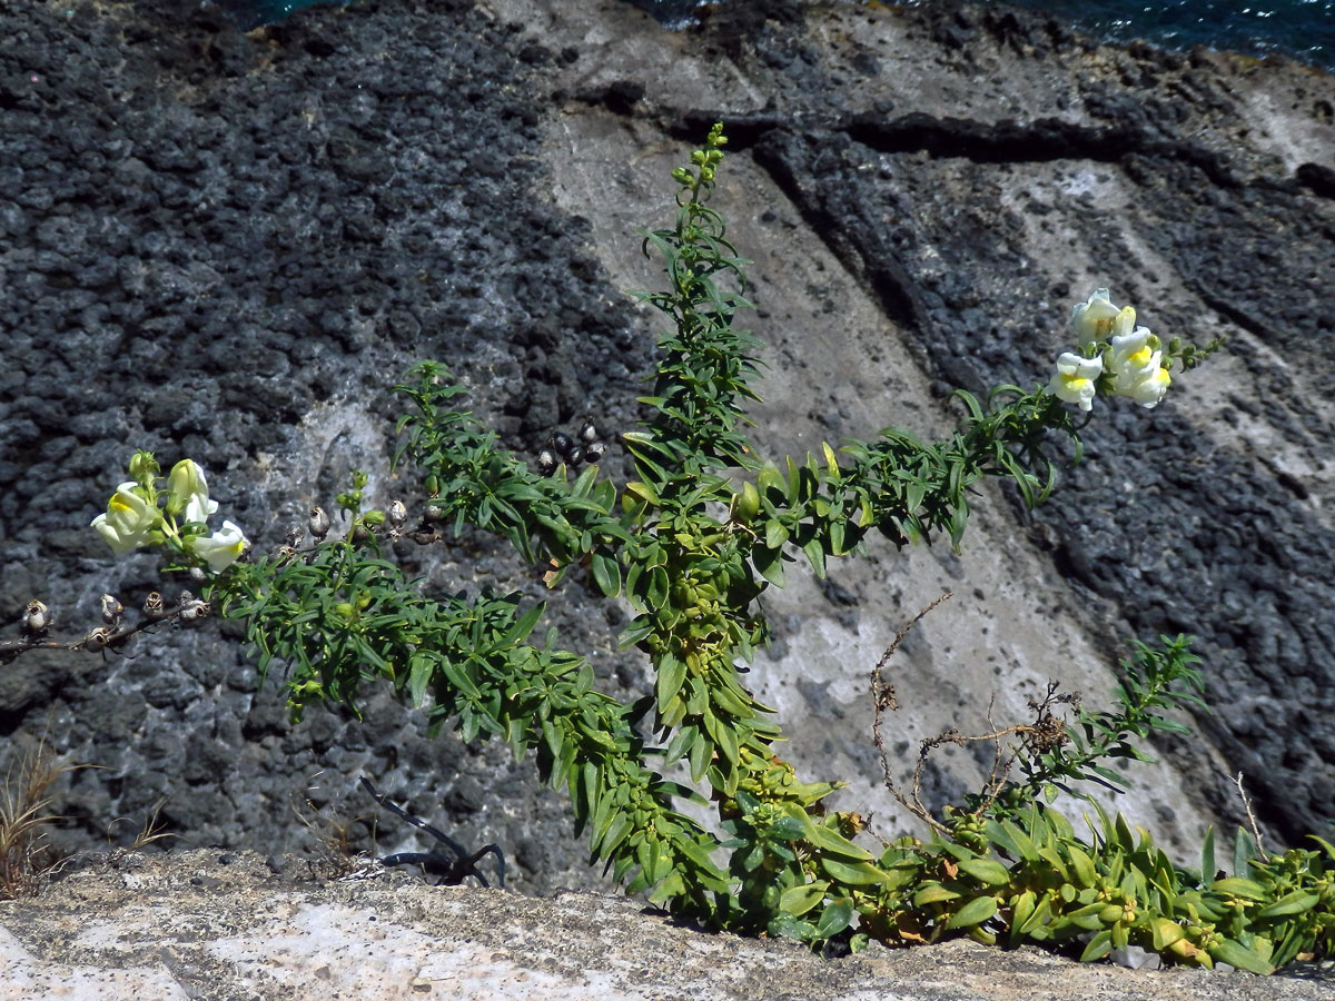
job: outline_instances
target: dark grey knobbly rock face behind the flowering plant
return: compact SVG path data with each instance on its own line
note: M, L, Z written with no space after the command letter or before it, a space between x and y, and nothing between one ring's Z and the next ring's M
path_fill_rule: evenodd
M138 447L202 462L264 549L354 468L374 500L413 500L386 463L388 388L419 358L451 364L529 454L586 414L630 427L653 319L618 290L655 280L631 231L670 218L668 170L722 119L717 204L756 259L766 454L890 423L944 435L951 388L1045 380L1099 286L1165 339L1230 338L1153 412L1100 406L1039 511L988 491L959 555L882 547L766 598L778 642L752 678L804 773L853 779L840 806L882 833L904 823L865 678L949 589L898 655L901 779L918 739L983 730L993 695L999 721L1049 677L1097 705L1121 637L1191 631L1216 713L1128 773L1135 819L1187 854L1239 818L1238 770L1276 838L1330 817L1330 76L972 8L746 3L669 33L619 4L386 0L240 35L140 0L11 5L0 29L9 621L39 597L77 634L103 590L132 607L163 586L85 527ZM481 537L396 557L431 587L542 593ZM614 650L622 611L574 582L551 621L609 693L649 689ZM296 848L295 806L364 845L366 774L502 845L521 889L598 885L526 763L429 741L375 690L362 719L290 726L236 639L223 625L0 669L13 747L47 731L99 766L57 790L64 848L128 838L163 798L188 844ZM928 799L987 763L933 762ZM383 823L380 848L411 834Z

